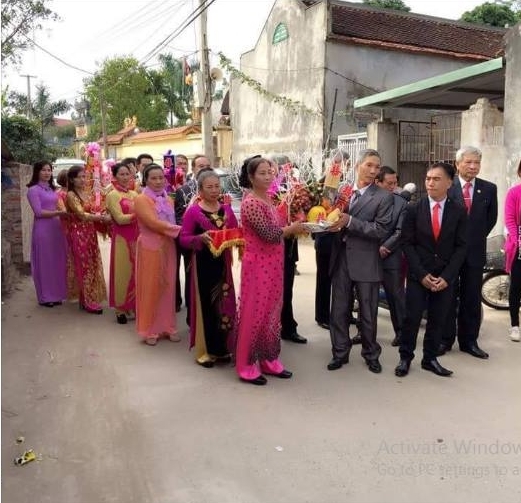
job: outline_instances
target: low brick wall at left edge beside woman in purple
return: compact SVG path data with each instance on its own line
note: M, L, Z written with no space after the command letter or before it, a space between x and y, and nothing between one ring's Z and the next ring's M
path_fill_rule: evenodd
M32 168L2 164L2 293L9 293L31 260L33 213L27 202Z

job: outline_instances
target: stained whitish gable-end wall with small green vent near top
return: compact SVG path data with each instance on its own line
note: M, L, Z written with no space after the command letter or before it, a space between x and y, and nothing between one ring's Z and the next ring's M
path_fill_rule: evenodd
M278 0L254 51L241 57L241 71L271 93L320 109L324 100L324 51L327 2L304 8L295 0ZM279 23L289 38L272 44ZM322 118L293 114L247 84L233 80L230 118L234 131L234 162L251 154L289 155L322 150Z

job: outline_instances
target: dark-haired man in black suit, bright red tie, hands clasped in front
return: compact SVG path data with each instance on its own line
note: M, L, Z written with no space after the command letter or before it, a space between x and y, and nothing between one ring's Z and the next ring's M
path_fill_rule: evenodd
M394 371L398 377L409 373L425 307L427 328L421 367L439 376L452 374L440 365L436 356L467 250L465 208L447 196L453 176L454 168L450 164L433 164L425 177L427 196L409 205L405 212L402 244L408 273L400 362Z

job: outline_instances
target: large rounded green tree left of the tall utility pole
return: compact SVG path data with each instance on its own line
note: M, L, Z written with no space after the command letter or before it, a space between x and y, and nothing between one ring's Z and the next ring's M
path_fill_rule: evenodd
M137 117L145 130L166 127L167 103L160 86L133 57L104 61L101 69L85 81L85 95L90 103L93 139L101 135L101 100L105 107L107 134L123 128L127 117Z

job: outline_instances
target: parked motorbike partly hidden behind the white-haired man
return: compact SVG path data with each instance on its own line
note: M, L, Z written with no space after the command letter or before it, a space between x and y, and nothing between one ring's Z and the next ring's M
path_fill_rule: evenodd
M481 282L481 301L493 309L508 309L510 276L505 271L505 238L493 236L487 239L487 259Z

